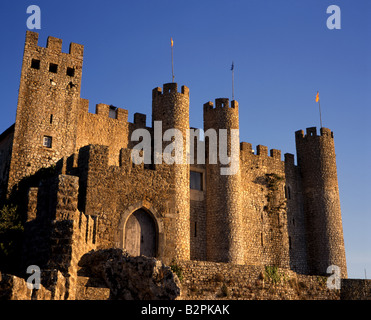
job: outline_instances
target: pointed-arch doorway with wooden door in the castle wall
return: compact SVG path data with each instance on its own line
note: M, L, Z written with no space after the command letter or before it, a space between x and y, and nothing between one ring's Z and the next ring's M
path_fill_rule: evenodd
M134 211L125 225L125 249L133 256L156 256L156 224L151 215L143 210Z

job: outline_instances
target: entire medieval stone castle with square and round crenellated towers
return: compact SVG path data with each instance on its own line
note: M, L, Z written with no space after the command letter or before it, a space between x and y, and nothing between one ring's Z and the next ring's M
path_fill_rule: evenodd
M205 164L135 164L136 129L153 133L161 121L163 132L186 136L189 89L153 89L151 127L146 115L129 122L127 110L107 104L92 114L80 97L84 47L61 48L54 37L40 47L27 31L15 124L0 136L1 196L23 199L25 266L65 263L67 272L91 248L118 247L165 263L274 265L302 274L336 265L347 277L331 130L295 133L297 165L292 154L282 160L280 150L258 145L255 153L238 142L238 172L221 175L225 165L208 161L207 139L195 141L206 144ZM225 98L205 103L203 129L238 129L238 108ZM227 148L230 154L230 140ZM61 241L68 237L75 242Z

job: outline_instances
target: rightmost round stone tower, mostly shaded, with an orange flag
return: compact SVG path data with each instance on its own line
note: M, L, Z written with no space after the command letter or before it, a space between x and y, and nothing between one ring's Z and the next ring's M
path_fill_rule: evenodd
M333 132L315 127L297 131L296 150L303 185L307 224L308 265L311 273L326 274L330 265L347 277L343 226Z

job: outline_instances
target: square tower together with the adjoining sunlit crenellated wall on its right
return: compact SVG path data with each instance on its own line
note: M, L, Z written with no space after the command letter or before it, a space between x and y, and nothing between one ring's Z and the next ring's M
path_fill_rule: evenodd
M61 49L61 39L49 37L44 48L37 33L26 33L9 191L23 177L85 145L109 146L109 161L116 165L120 149L128 145L127 110L113 107L112 115L111 106L98 104L92 114L88 100L80 98L84 47L71 43L69 53ZM44 137L51 138L50 148L43 145Z

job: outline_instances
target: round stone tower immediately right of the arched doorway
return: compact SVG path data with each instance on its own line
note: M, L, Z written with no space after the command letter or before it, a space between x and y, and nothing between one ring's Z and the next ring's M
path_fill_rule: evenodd
M163 135L168 129L176 129L178 136L175 139L182 142L181 163L171 164L172 166L172 201L170 202L170 211L173 215L174 236L172 240L168 239L167 250L173 252L175 259L190 259L190 190L189 190L189 164L187 163L187 134L189 131L189 89L182 86L181 92L178 92L177 83L167 83L161 88L155 88L152 91L152 121L156 141L162 141ZM161 121L157 122L157 121ZM158 135L158 128L161 128L162 134ZM165 138L164 138L165 140ZM163 151L171 142L162 143ZM156 145L154 146L156 153ZM165 153L163 153L164 156ZM154 160L156 164L156 157ZM157 161L157 163L161 163ZM170 243L171 242L171 243ZM170 253L171 254L171 253Z

